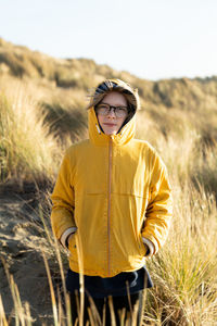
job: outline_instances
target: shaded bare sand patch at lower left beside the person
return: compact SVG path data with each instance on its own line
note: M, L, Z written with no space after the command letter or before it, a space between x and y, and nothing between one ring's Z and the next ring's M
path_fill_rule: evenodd
M41 325L42 322L44 325L53 325L50 289L41 251L49 260L54 286L60 284L60 273L38 211L41 198L35 191L0 192L0 293L4 312L8 318L12 318L10 325L14 323L14 302L2 261L18 287L22 302L27 301L30 305L34 325ZM44 198L42 202L44 204ZM46 215L49 220L48 212Z

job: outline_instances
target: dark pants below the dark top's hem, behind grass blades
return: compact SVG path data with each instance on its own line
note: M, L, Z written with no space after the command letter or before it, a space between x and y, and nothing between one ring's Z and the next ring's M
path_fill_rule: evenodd
M141 325L143 312L143 291L130 294L130 297L106 297L106 298L91 298L85 294L84 308L84 326L87 321L92 319L92 325L126 325L127 321L132 324L132 318L137 321L135 325ZM130 303L129 303L130 301ZM94 303L94 304L93 304ZM80 305L80 297L77 293L71 293L71 310L73 325L78 318L78 306ZM95 312L97 309L97 312ZM135 313L135 311L137 312ZM120 312L119 312L120 311ZM112 321L116 322L113 324ZM103 322L104 321L104 322ZM79 325L79 324L77 324ZM91 325L91 324L89 324Z

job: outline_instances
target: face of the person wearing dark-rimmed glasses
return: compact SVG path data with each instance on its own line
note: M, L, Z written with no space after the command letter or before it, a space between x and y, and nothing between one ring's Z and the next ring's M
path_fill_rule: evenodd
M127 108L126 98L117 91L111 91L110 93L107 93L103 98L101 103ZM126 112L126 114L122 117L117 117L114 110L110 110L107 115L102 115L100 114L100 112L97 114L99 124L101 125L104 134L116 135L119 128L122 127L123 123L125 122L128 113Z

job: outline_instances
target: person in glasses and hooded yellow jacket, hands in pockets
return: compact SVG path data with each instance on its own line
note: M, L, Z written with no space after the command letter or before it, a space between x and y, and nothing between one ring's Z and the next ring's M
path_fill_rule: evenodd
M137 90L119 79L101 83L88 106L89 139L65 153L53 190L52 227L68 248L73 322L77 317L75 290L79 289L81 260L86 309L91 296L100 315L112 296L116 323L118 310L126 318L142 290L152 287L145 258L164 243L171 217L171 193L167 172L155 150L133 139ZM145 281L144 281L145 280ZM130 303L128 301L130 294Z

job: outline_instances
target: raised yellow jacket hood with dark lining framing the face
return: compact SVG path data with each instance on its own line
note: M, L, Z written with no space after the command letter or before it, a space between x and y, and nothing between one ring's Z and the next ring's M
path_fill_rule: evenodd
M131 117L127 123L120 128L119 133L116 135L105 135L98 122L98 117L94 111L94 105L97 105L103 97L110 91L119 91L123 93L131 110ZM106 146L108 140L112 139L114 145L122 146L129 142L136 133L136 112L139 110L139 96L138 90L132 89L131 86L120 79L106 79L102 82L94 90L91 96L90 105L88 106L88 127L90 140L97 146Z

